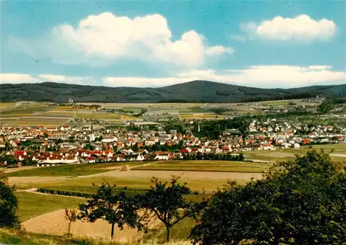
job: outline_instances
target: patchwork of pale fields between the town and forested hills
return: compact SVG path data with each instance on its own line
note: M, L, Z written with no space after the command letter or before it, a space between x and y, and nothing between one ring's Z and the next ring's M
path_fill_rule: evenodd
M104 120L107 124L122 124L127 121L151 121L180 118L181 120L220 120L225 116L258 114L266 106L285 106L290 101L255 103L83 103L83 106L58 106L46 102L0 103L0 125L30 127L38 125L60 126L73 120ZM274 104L273 104L274 103ZM89 107L98 105L96 107ZM226 108L224 115L215 114L211 109ZM145 113L140 116L142 109ZM102 111L102 112L101 112ZM112 111L112 112L111 112ZM122 111L130 111L124 113Z

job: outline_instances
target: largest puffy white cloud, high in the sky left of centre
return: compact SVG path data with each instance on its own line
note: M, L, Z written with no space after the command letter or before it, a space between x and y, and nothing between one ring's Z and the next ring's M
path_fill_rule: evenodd
M103 12L82 19L77 26L55 26L43 38L44 42L35 40L35 45L14 40L24 52L33 54L36 49L36 53L48 53L54 62L62 64L100 65L126 59L200 66L206 57L234 52L233 48L208 46L203 35L194 30L178 39L172 36L167 20L161 15L131 19Z

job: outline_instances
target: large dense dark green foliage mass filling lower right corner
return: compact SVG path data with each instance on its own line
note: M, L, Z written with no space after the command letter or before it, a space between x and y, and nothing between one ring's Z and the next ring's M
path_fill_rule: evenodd
M212 197L194 244L345 244L345 168L311 150L261 180L228 183Z

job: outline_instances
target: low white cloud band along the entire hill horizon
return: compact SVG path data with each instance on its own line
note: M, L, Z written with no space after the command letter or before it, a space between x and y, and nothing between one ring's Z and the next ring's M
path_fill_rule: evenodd
M66 75L0 74L0 84L26 82L61 82L69 84L100 85L109 87L165 87L192 80L209 80L251 87L288 88L314 84L346 84L346 72L335 71L331 66L250 66L247 69L226 71L188 70L166 78L108 77L93 78Z

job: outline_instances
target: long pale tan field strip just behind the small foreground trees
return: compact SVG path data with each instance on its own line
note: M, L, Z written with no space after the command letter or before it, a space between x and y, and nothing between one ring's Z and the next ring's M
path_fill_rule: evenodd
M53 188L55 186L69 187L89 187L93 183L100 185L107 181L116 184L118 187L128 187L131 189L147 189L152 185L152 177L157 177L163 181L169 181L172 175L181 176L181 182L187 182L192 190L214 191L225 185L228 179L237 180L239 183L246 183L251 178L261 178L260 173L236 173L236 172L190 172L190 171L127 171L127 172L104 172L99 176L85 178L66 179L62 176L55 177L10 177L9 182L16 184L17 188L23 190L28 188ZM23 181L21 181L23 179Z

